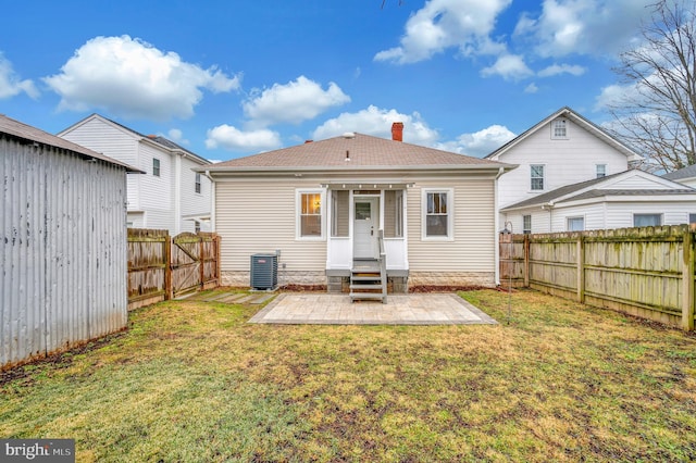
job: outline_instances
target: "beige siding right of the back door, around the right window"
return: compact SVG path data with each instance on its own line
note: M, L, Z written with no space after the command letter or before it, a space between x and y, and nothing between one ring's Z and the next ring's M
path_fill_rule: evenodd
M422 188L453 188L455 239L422 240ZM457 178L418 182L409 188L409 265L414 272L494 272L495 207L494 180Z

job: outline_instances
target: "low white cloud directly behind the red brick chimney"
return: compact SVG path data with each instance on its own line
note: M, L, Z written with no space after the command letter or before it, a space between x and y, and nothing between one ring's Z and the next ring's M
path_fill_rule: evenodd
M406 142L433 146L438 138L437 132L430 128L419 113L402 114L396 110L385 110L374 105L357 113L341 113L338 117L316 127L312 136L315 140L323 140L346 132L358 132L391 138L391 124L395 122L403 123L403 141Z

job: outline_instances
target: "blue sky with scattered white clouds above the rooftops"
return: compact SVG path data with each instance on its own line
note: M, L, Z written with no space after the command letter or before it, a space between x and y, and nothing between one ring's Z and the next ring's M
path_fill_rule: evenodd
M562 107L602 124L654 0L34 1L3 9L0 113L99 113L215 161L346 132L483 157Z

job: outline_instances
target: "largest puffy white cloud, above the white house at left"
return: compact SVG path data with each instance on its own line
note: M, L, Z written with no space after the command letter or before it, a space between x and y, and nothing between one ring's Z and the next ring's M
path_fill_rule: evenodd
M203 70L128 36L96 37L44 80L61 96L60 109L107 110L123 117L187 118L201 89L226 92L239 87L216 67Z

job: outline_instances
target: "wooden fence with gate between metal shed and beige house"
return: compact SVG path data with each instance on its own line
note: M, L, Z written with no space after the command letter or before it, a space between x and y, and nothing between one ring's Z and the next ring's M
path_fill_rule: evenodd
M128 310L220 285L220 237L128 228Z

